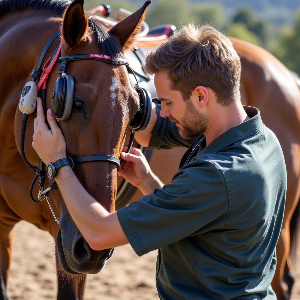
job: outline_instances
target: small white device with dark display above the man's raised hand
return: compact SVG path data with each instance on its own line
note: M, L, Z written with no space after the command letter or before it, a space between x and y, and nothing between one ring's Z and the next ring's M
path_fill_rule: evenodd
M37 105L37 85L34 81L29 81L26 83L22 95L20 97L19 109L24 114L30 115L35 112Z

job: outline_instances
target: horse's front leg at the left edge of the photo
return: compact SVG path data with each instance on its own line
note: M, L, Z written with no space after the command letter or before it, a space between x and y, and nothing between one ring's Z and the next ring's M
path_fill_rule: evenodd
M11 262L13 226L19 221L0 196L0 300L8 300L6 286Z

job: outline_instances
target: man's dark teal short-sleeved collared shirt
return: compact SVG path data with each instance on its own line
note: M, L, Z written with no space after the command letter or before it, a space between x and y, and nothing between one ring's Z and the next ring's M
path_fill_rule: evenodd
M187 156L184 141L161 118L152 147L188 145L170 184L118 211L138 255L159 249L156 284L164 300L276 299L271 280L283 220L286 167L259 111Z

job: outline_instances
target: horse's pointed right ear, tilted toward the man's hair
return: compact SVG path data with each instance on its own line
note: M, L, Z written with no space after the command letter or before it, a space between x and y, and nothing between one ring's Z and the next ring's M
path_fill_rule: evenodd
M140 32L142 22L145 19L146 8L150 3L151 0L146 1L143 7L121 20L109 30L119 40L124 52L133 47L135 36Z

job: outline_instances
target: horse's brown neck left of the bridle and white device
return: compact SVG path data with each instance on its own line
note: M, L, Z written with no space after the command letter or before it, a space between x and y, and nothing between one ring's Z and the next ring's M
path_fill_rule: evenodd
M28 13L18 13L0 20L0 140L4 150L17 152L13 128L16 113L20 120L22 116L17 111L22 88L31 79L47 40L61 24L48 18L45 14L29 17Z

